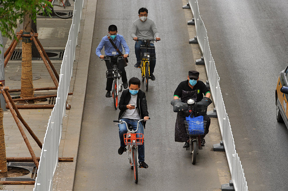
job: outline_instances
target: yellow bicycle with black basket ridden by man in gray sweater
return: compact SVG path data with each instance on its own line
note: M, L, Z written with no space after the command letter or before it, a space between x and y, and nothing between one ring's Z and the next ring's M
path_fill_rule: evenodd
M148 91L148 84L149 84L149 78L150 78L150 59L156 59L155 58L155 47L150 45L151 40L158 41L156 39L137 39L141 40L145 43L145 45L141 45L141 77L142 82L145 81L145 88L146 91Z

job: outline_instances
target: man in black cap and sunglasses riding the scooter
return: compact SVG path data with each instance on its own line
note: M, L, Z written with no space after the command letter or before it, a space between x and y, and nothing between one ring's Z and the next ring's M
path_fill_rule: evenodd
M176 88L174 92L174 99L181 99L181 102L183 103L187 103L188 99L193 99L195 102L202 102L203 94L205 95L204 99L208 98L210 100L211 93L204 82L199 80L199 72L191 70L188 72L187 80L181 82ZM204 121L207 121L205 134L201 136L201 142L204 144L204 137L209 132L211 121L206 112L205 114L202 113L201 115L203 115ZM188 148L189 142L187 142L187 140L189 140L189 135L187 134L185 128L185 117L187 117L187 113L185 113L185 111L177 113L177 119L175 123L175 142L185 142L183 148Z

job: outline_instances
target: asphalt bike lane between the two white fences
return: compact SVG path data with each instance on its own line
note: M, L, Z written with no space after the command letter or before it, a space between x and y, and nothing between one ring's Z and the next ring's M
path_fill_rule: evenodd
M92 56L88 74L88 88L77 157L74 190L213 190L218 191L221 181L218 175L229 177L224 153L211 151L219 131L211 129L208 143L197 156L196 165L191 155L182 148L183 143L174 142L176 113L170 101L179 82L187 78L187 71L195 69L187 21L181 1L99 1L92 44ZM139 169L139 182L133 181L126 153L118 155L120 146L118 127L119 110L113 107L113 99L105 98L106 66L95 50L108 26L116 24L130 47L128 79L141 76L134 68L134 41L130 37L132 22L138 18L138 9L148 8L148 17L156 21L161 41L156 43L156 81L149 82L146 92L151 121L145 129L145 162L148 169ZM142 83L143 84L143 83ZM145 91L145 85L141 86ZM209 133L210 134L210 133ZM209 140L211 140L209 142ZM228 173L228 175L226 175ZM225 183L228 183L225 182ZM223 184L223 183L222 183Z

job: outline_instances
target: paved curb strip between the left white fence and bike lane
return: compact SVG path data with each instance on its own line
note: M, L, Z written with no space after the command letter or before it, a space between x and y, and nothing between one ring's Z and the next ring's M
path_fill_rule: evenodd
M67 132L66 136L63 137L62 140L65 141L62 156L74 157L74 161L72 163L62 162L62 165L60 163L58 164L58 167L56 169L56 171L58 171L57 173L58 178L54 176L54 186L55 184L57 184L56 190L72 191L74 186L80 131L82 125L82 115L87 88L88 67L90 62L92 36L96 15L96 5L97 0L84 1L84 9L82 12L84 27L83 30L82 28L80 28L80 32L82 33L83 36L81 39L81 45L79 48L77 48L75 52L76 54L75 58L76 59L78 58L77 69L73 87L71 109L66 119ZM55 179L58 180L55 181Z

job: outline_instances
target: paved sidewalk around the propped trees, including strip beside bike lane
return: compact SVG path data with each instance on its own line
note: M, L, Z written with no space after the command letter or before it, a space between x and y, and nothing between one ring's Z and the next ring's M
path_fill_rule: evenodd
M87 3L90 5L87 6ZM93 33L95 12L97 1L84 1L84 9L82 12L82 21L80 24L80 32L78 35L78 45L76 48L75 62L73 66L73 75L71 78L70 91L73 96L68 96L67 101L71 104L71 109L66 110L66 116L63 119L62 140L59 147L59 157L74 157L73 162L59 162L53 181L53 190L72 190L75 174L75 166L77 160L79 133L82 121L82 112L84 106L84 98L86 92L86 81L88 75L88 63L90 59L91 39ZM88 14L86 14L88 13ZM38 38L46 52L58 54L51 57L51 61L60 73L62 60L59 59L61 51L65 50L68 39L71 19L46 18L37 16L37 32ZM17 32L22 29L19 25ZM85 34L85 36L83 36ZM11 40L4 39L4 51L9 47ZM83 46L81 46L83 45ZM15 51L21 51L21 42L18 43ZM81 62L80 62L81 60ZM79 62L79 64L78 64ZM43 63L40 60L32 61L33 85L35 88L54 87L54 83ZM77 73L77 76L76 76ZM21 87L21 58L16 57L10 60L5 67L5 85L10 89ZM35 80L34 80L35 78ZM36 78L39 78L36 80ZM36 91L35 96L56 94L57 90ZM20 93L11 93L12 97L19 96ZM50 103L49 103L50 101ZM37 104L53 104L53 99ZM31 129L41 142L46 132L48 119L52 109L20 109L22 117L29 124ZM7 157L31 157L26 144L18 130L18 127L12 117L11 112L5 111L3 117L3 126L5 131L6 155ZM22 126L24 128L24 126ZM29 135L28 131L24 131L33 147L35 155L40 156L41 149ZM6 185L7 190L33 190L34 185Z

